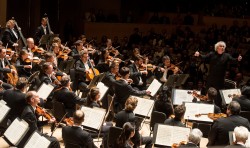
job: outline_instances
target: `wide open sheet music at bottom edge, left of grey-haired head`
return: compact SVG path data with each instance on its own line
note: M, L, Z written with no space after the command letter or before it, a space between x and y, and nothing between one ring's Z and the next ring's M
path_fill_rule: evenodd
M190 128L157 124L154 143L162 146L172 146L173 143L187 141L189 133Z

